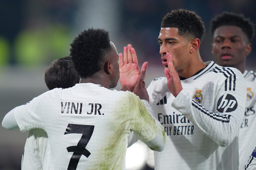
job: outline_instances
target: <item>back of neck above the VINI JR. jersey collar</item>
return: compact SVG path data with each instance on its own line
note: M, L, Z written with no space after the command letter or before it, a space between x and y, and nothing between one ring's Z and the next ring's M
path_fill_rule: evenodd
M106 76L104 76L104 74L97 72L88 78L81 78L79 83L99 84L109 89L110 82L109 82L109 79Z

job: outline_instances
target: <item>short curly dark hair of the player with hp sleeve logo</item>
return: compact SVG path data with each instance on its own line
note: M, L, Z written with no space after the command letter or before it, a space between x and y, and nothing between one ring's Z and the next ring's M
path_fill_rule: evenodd
M205 32L204 22L195 12L179 9L164 16L161 28L178 28L181 36L191 36L202 41Z

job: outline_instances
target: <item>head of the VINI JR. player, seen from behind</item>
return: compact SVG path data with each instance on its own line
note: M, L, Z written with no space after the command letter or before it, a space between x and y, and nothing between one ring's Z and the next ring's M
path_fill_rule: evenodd
M91 28L81 32L71 43L70 56L81 77L80 83L116 87L119 55L106 30Z

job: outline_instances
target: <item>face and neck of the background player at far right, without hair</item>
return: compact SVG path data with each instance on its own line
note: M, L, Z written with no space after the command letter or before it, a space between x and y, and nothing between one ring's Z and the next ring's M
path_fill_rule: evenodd
M212 54L221 66L234 67L243 73L251 49L251 43L240 27L221 26L214 31Z

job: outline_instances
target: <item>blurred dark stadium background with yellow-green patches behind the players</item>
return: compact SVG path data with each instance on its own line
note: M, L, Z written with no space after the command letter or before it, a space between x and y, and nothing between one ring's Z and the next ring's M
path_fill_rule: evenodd
M54 59L68 56L70 43L83 30L104 28L118 52L131 43L141 66L148 61L146 85L164 75L159 54L160 24L173 9L195 11L205 23L200 54L211 54L210 22L223 11L242 13L256 23L254 0L0 0L0 120L12 108L47 91L44 71ZM256 71L256 38L246 68ZM255 47L255 48L254 48ZM95 61L97 62L97 61ZM196 65L195 65L196 67ZM120 85L116 89L120 89ZM0 127L0 169L20 169L27 132ZM138 143L128 149L127 169L152 169L152 157ZM139 150L140 149L140 150ZM134 154L136 153L136 154ZM135 155L137 157L135 157ZM138 162L135 162L139 160ZM147 161L147 160L151 160ZM142 163L141 163L142 162ZM148 162L148 163L147 163ZM135 167L134 165L140 165ZM151 167L151 168L150 168Z

